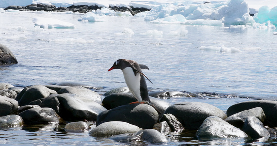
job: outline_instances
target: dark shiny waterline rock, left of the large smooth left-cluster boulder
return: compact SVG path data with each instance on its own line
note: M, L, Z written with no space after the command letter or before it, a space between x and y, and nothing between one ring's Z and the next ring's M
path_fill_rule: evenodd
M31 108L18 114L24 123L59 123L60 116L51 108Z

